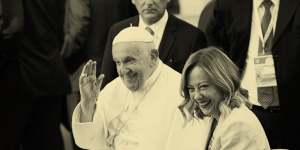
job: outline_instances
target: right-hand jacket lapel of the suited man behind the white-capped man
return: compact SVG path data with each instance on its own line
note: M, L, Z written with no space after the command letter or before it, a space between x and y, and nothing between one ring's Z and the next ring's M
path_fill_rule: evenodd
M165 61L169 55L173 42L175 40L175 31L177 23L174 16L169 15L165 31L163 33L158 51L162 61Z

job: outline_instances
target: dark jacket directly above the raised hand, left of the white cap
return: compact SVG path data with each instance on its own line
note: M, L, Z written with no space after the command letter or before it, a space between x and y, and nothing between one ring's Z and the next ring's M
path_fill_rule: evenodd
M86 45L88 57L101 61L110 27L137 13L131 0L91 0L91 28Z

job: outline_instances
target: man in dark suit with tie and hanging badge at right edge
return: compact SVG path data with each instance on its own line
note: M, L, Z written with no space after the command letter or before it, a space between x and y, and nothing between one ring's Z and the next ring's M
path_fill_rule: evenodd
M300 1L217 0L214 16L208 41L239 66L271 148L298 149Z

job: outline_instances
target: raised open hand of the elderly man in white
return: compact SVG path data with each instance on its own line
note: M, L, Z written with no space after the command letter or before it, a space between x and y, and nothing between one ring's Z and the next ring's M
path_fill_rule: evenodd
M79 89L81 95L81 110L84 114L88 115L88 118L95 111L96 100L100 87L103 81L104 75L101 74L96 77L96 62L89 60L82 69L79 78ZM88 119L90 120L90 119Z

